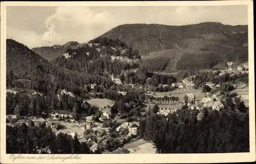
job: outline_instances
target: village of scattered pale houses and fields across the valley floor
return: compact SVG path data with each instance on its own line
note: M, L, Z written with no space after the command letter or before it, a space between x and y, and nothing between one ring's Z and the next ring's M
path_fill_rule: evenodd
M234 73L248 73L248 63L240 64L237 68L232 67L232 64L233 62L228 62L225 70L209 71L217 73L215 77L225 75L226 73L229 73L231 76ZM72 113L52 113L45 119L38 117L19 118L16 115L7 115L7 125L22 124L23 122L28 126L31 126L31 122L37 126L46 124L47 127L52 128L56 135L60 132L67 133L72 138L76 136L80 142L88 143L90 151L93 153L97 153L99 150L102 153L155 153L156 149L152 142L144 141L137 136L140 120L145 119L151 113L165 117L169 114L176 114L178 116L179 111L184 106L191 110L199 111L197 120L201 120L205 108L219 111L224 107L223 100L225 95L221 93L223 92L221 84L206 82L204 85L195 88L193 79L196 76L180 79L180 81L171 85L159 84L157 88L161 88L162 92L154 92L152 85L123 84L120 78L114 77L113 74L110 78L113 83L121 88L128 87L144 93L143 107L140 109L141 112L137 115L138 117L125 118L121 114L113 114L111 108L115 101L97 98L99 93L94 90L97 84L90 84L91 97L83 100L83 103L89 103L98 108L98 116L88 115L84 119L77 121ZM151 80L151 78L148 78L148 80ZM248 106L248 84L239 83L235 87L236 89L232 91L236 92L232 98L233 101L234 98L239 98ZM168 90L167 88L171 88L172 91L164 92L163 90ZM14 92L15 94L17 91L7 90L7 92ZM127 94L126 91L117 91L117 93L123 97ZM73 93L66 90L60 92L60 95L63 94L74 96ZM109 138L114 138L115 141L110 141ZM114 146L111 145L113 143Z

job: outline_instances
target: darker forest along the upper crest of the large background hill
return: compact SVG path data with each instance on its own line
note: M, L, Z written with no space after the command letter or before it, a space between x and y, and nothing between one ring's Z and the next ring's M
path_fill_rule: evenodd
M101 37L120 39L132 44L143 55L163 49L173 49L177 45L186 48L184 39L200 39L206 34L221 34L233 39L231 32L247 32L247 25L224 25L219 22L204 22L182 26L163 24L123 24L106 32ZM248 36L248 35L247 35ZM223 38L223 37L222 37Z

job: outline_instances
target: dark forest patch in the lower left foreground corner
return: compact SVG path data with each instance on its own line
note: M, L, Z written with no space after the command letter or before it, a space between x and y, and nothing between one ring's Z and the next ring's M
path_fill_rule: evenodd
M55 134L45 124L35 126L31 121L17 126L6 126L6 152L8 154L90 154L87 143L80 143L77 136L67 133ZM95 153L101 153L96 151Z

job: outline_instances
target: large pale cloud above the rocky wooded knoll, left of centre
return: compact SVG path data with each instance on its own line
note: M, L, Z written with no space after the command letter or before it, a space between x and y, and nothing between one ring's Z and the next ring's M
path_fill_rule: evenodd
M108 12L95 13L89 7L58 7L56 13L47 18L48 30L41 39L56 44L70 39L86 42L95 38L94 31L100 35L112 28L111 17Z

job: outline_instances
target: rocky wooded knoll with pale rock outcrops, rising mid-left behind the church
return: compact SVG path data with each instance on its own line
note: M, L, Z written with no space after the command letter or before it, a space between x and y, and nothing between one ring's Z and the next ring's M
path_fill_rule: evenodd
M81 47L68 48L66 52L71 56L70 58L58 57L52 63L94 75L103 75L105 72L119 75L123 70L140 67L138 50L134 50L118 39L96 38ZM121 57L124 60L113 60L113 57ZM137 62L134 61L136 59Z

